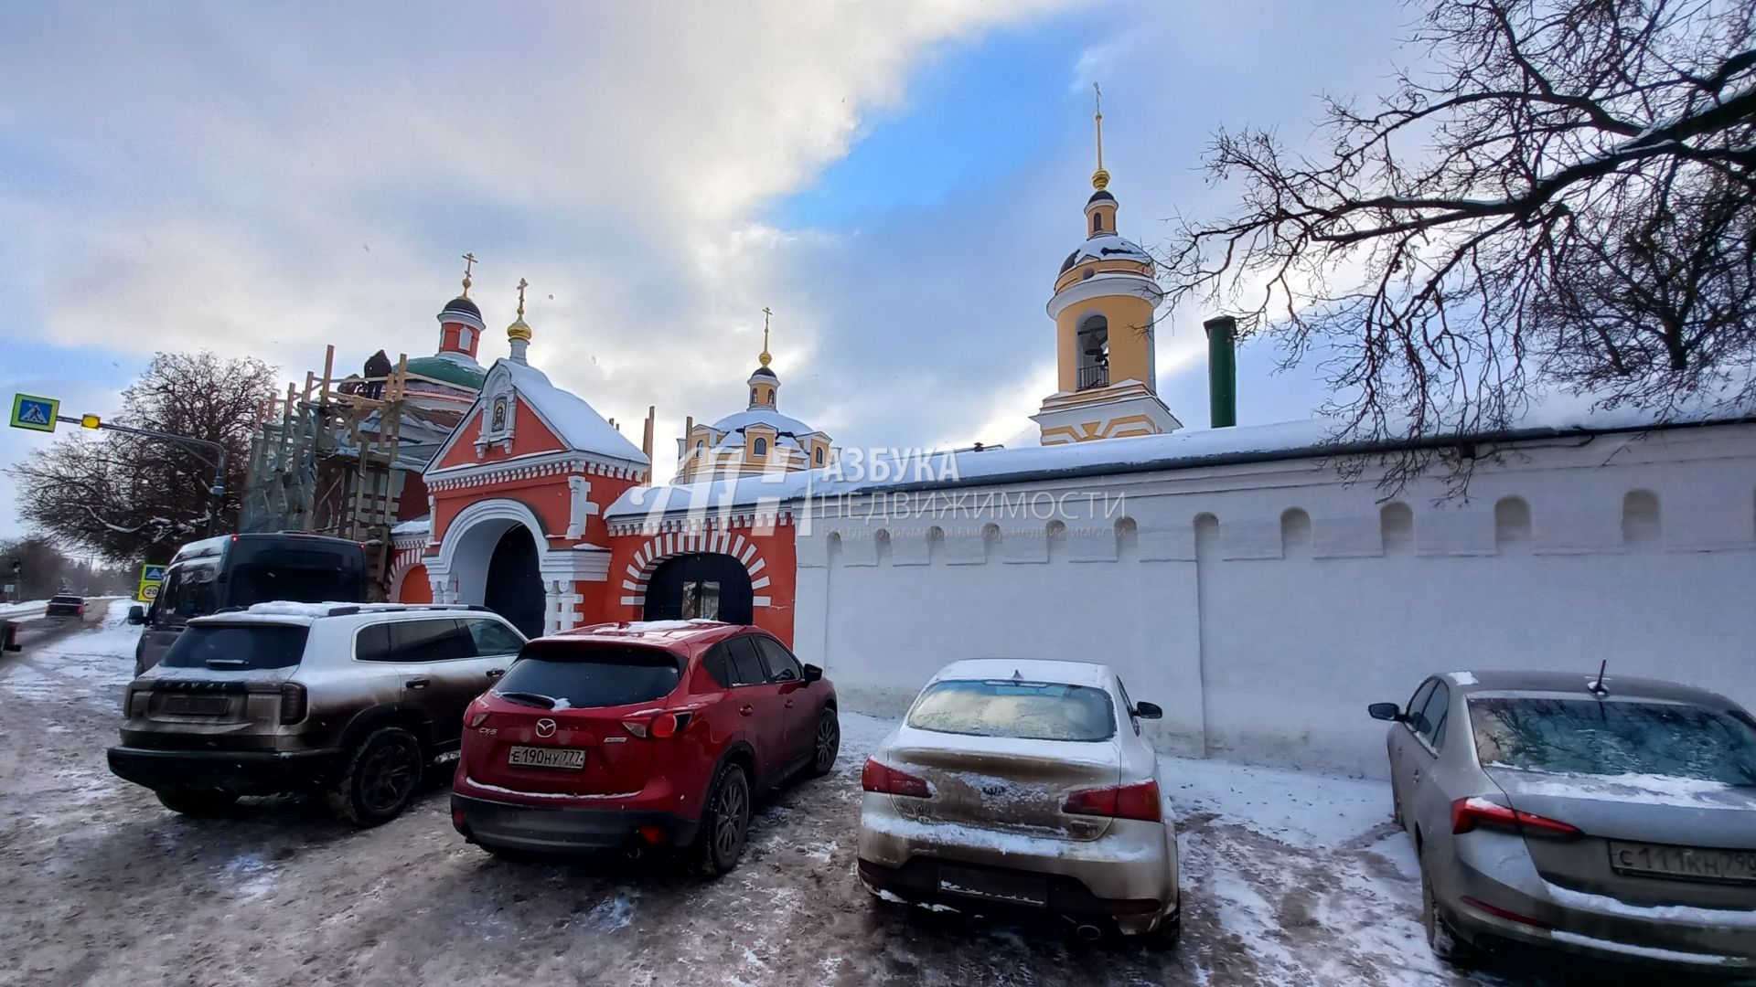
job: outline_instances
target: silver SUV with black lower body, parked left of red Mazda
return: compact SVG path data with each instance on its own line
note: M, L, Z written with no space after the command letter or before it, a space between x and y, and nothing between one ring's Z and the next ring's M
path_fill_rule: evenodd
M523 645L502 616L464 606L265 602L200 616L128 685L109 766L179 813L306 792L378 825L458 748L464 708Z

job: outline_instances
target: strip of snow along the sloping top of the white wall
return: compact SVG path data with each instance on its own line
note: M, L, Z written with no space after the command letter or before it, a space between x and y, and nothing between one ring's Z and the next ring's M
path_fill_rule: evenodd
M1728 414L1684 414L1673 423L1733 423L1744 418ZM1605 432L1644 429L1654 421L1638 409L1591 411L1579 402L1552 402L1533 409L1514 425L1514 432ZM1240 425L1233 429L1180 429L1164 436L1136 436L1105 439L1101 443L1068 443L1061 446L1027 446L1015 450L964 450L957 453L913 453L897 460L876 479L871 471L855 472L843 464L813 471L766 472L759 476L725 478L671 486L636 486L625 492L604 511L604 518L637 518L681 513L688 509L715 511L736 506L780 506L802 497L836 497L871 494L899 486L952 486L971 483L1010 483L1083 472L1117 472L1143 469L1194 469L1234 457L1263 455L1298 458L1322 455L1322 446L1338 441L1340 423L1335 420L1282 421L1275 425ZM1459 436L1463 437L1463 436ZM945 464L955 462L955 472ZM915 464L931 467L936 481L913 481ZM955 476L955 481L950 479Z

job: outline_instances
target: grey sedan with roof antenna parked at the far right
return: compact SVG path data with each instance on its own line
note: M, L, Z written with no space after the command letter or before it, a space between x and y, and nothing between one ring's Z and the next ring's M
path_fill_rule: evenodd
M1433 952L1756 969L1756 720L1645 678L1449 673L1375 702Z

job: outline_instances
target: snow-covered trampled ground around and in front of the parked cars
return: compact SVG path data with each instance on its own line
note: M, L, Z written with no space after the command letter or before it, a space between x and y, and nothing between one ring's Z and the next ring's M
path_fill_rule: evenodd
M191 820L109 774L137 630L0 659L0 983L1468 983L1421 938L1382 783L1175 760L1178 950L1045 924L873 908L853 878L864 752L780 792L706 883L629 866L507 864L435 789L372 831L302 803ZM1496 975L1496 983L1528 983Z

